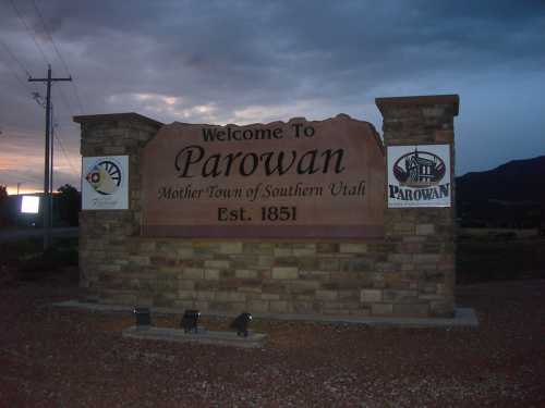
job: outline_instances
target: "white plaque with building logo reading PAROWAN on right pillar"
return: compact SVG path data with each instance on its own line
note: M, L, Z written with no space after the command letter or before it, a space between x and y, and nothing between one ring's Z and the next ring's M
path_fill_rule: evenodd
M388 208L450 207L450 146L388 147Z

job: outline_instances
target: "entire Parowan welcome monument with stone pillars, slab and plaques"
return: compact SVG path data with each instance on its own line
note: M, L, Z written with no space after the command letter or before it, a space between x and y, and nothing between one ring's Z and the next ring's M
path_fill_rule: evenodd
M83 300L205 313L455 312L456 95L339 114L82 127Z

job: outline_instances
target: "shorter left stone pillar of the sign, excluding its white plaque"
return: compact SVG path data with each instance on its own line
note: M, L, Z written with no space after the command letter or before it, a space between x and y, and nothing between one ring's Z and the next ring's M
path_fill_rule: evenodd
M129 210L80 212L80 285L84 300L134 302L118 273L131 261L126 238L140 234L141 149L162 123L137 113L74 116L81 124L83 157L129 156ZM108 299L109 293L116 296ZM123 301L124 300L124 301Z

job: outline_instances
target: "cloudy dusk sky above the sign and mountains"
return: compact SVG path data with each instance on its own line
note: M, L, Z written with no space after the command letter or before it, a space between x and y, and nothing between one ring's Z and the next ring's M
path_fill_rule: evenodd
M53 41L51 41L51 38ZM337 113L459 94L457 174L545 154L545 1L0 0L0 184L40 189L53 85L56 188L80 188L75 114L170 123Z

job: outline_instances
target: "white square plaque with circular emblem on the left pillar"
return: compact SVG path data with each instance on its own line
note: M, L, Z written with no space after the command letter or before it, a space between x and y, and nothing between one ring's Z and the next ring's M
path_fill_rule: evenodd
M82 209L129 209L129 156L82 160Z

